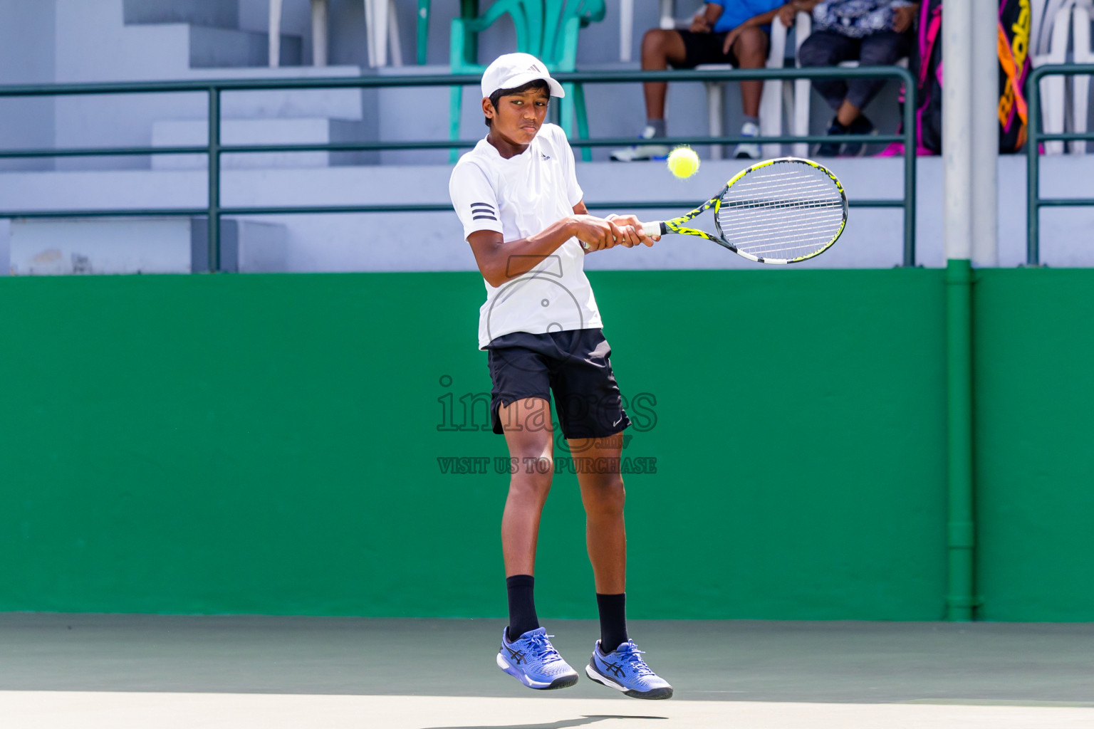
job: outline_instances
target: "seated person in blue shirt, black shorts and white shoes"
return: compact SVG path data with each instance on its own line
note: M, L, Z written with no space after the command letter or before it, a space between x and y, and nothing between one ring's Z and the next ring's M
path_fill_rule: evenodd
M691 19L687 31L654 28L642 37L642 68L662 71L691 69L701 63L732 63L734 68L759 69L767 61L769 23L783 0L709 0ZM665 137L665 87L663 82L643 84L645 129L641 139ZM763 81L742 81L744 110L742 137L759 136L759 97ZM759 158L759 144L738 144L737 158ZM668 154L664 144L649 143L616 150L612 158L620 162L650 160Z

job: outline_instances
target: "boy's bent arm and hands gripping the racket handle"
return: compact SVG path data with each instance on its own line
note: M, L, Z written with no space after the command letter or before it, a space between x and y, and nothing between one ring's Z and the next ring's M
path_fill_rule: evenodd
M581 209L584 208L581 204ZM534 269L570 238L585 244L585 252L610 248L616 243L630 239L614 222L575 212L526 238L505 242L497 231L475 231L467 236L467 243L472 246L482 278L497 287Z

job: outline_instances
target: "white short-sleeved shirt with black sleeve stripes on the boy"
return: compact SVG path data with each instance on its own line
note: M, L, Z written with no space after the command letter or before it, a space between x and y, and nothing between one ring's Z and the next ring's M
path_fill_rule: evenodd
M464 239L475 231L497 231L507 243L572 215L583 197L573 151L562 129L552 124L540 127L528 149L509 160L480 140L453 168L449 195L464 224ZM500 286L484 280L479 349L514 331L543 334L601 328L584 259L581 243L570 238L520 278Z

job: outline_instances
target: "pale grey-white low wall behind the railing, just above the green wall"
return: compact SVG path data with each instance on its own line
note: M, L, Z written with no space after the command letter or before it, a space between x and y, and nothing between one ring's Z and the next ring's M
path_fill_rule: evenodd
M659 163L592 163L578 166L587 202L678 200L664 211L640 211L644 220L679 214L715 192L743 167L737 161L703 163L691 179L673 178ZM1043 161L1046 196L1094 198L1094 155ZM903 184L900 160L834 160L833 171L848 197L896 198ZM620 174L620 171L626 174ZM1025 260L1025 158L1000 158L999 263ZM224 205L354 203L449 204L447 165L362 166L313 169L226 171ZM917 260L945 264L942 250L942 160L922 157L918 167ZM71 172L0 174L0 200L23 210L49 209L58 199L80 209L119 207L201 207L203 171ZM605 213L609 211L598 211ZM617 210L615 212L626 212ZM292 271L475 270L470 249L451 210L434 213L248 216L283 226L286 263ZM712 230L709 214L697 219ZM1041 217L1041 258L1049 266L1094 267L1094 210L1047 210ZM897 266L903 246L897 210L851 209L847 230L830 251L795 268L887 268ZM2 236L2 228L0 228ZM2 248L2 243L0 243ZM590 269L754 268L720 246L687 236L666 236L652 249L609 250L591 257Z

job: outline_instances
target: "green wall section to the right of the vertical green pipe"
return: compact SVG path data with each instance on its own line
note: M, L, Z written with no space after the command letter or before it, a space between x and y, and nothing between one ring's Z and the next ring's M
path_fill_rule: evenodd
M978 279L980 615L1094 621L1094 270Z

